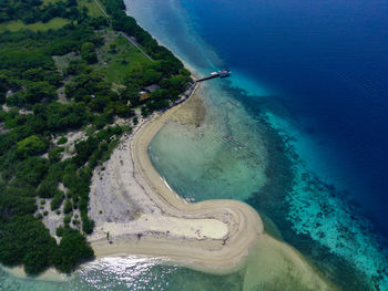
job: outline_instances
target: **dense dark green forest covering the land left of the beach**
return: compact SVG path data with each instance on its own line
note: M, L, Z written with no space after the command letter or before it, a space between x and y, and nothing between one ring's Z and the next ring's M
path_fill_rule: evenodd
M135 107L143 115L167 107L191 83L122 0L101 2L109 18L94 0L0 3L0 262L28 274L51 266L71 272L93 258L93 169L136 124ZM63 25L49 27L58 18ZM142 100L149 85L156 90ZM82 138L71 141L73 133ZM55 215L63 220L50 233L43 222Z

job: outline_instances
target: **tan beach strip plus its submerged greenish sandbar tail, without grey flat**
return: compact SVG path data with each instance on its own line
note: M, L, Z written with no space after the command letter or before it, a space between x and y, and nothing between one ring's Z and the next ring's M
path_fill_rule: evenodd
M195 91L191 100L194 97L196 97ZM186 202L160 176L150 160L149 144L164 124L170 121L177 122L174 115L178 111L190 110L182 108L186 105L188 102L181 103L162 114L154 114L152 118L136 127L131 137L124 142L127 145L124 154L130 154L133 160L132 177L143 186L150 202L155 204L161 210L162 215L156 215L160 219L156 231L142 233L139 238L133 230L137 226L133 222L131 225L130 221L126 224L126 229L132 229L132 233L125 233L124 229L120 229L112 245L104 238L92 241L96 258L122 256L156 258L160 263L213 274L243 271L252 281L270 282L275 278L287 281L292 276L305 287L314 285L316 290L337 290L303 254L267 233L261 216L251 206L227 199ZM120 165L125 172L123 167L125 160ZM156 212L155 209L152 211ZM155 228L154 221L149 224L144 221L150 220L150 217L152 215L147 212L135 220L144 218L142 221L144 225L151 224ZM183 218L186 221L203 220L203 224L192 227L202 227L202 231L207 229L207 236L197 237L196 231L187 231L185 224L176 225L184 235L176 229L169 231L165 227L166 225L170 227L173 221L165 221L169 219L166 217ZM218 229L214 228L215 221L219 222ZM221 229L225 226L226 231ZM272 269L270 273L267 273L268 268ZM256 274L258 279L252 279L252 273L258 270L263 270ZM289 273L289 270L293 271Z

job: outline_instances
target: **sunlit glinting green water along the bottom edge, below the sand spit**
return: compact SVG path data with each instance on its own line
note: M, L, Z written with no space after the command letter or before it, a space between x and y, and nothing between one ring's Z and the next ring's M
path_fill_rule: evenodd
M68 282L16 279L0 271L0 290L242 290L241 274L211 276L162 266L154 259L105 258L85 264ZM221 289L219 289L221 288Z

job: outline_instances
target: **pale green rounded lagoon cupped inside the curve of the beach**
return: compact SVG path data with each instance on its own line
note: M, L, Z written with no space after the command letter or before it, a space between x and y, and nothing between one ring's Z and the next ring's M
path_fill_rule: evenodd
M259 124L238 102L229 102L228 92L218 98L219 92L222 84L198 91L206 94L205 124L170 123L150 145L156 168L187 199L244 200L266 181L268 154Z

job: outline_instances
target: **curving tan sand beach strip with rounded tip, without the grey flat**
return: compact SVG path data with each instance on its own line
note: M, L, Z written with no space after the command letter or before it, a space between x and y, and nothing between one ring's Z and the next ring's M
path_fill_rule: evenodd
M123 253L167 257L169 261L192 269L229 273L243 266L248 250L263 233L262 220L251 206L235 200L187 204L153 167L147 155L149 143L185 103L155 113L134 129L129 141L123 142L124 147L127 146L124 154L131 155L133 160L134 179L161 214L142 214L116 230L113 225L104 224L101 232L109 231L113 243L102 233L100 237L92 235L90 241L96 258ZM123 160L123 164L126 162ZM175 226L170 227L169 224ZM152 231L136 233L136 229L144 230L146 227Z

